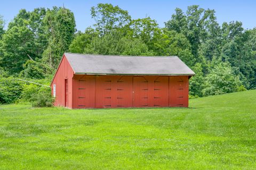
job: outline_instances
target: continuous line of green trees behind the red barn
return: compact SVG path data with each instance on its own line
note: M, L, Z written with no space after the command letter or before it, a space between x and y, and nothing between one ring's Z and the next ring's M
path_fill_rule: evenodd
M256 88L256 29L245 30L238 21L220 25L214 10L176 8L164 28L150 17L132 19L111 4L91 7L91 18L93 25L77 31L68 8L22 9L5 30L1 16L1 76L50 79L64 52L175 55L196 73L191 97Z

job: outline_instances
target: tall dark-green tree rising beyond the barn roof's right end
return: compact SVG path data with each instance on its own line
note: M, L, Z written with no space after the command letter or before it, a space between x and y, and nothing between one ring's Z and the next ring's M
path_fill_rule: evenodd
M186 14L177 8L171 20L165 22L168 30L177 31L187 37L197 62L200 52L209 60L218 55L220 27L214 13L214 10L204 10L198 5L192 5L188 6Z

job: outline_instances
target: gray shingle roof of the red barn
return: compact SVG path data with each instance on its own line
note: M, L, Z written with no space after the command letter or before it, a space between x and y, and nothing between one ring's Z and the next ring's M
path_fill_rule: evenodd
M75 74L195 75L179 57L65 53Z

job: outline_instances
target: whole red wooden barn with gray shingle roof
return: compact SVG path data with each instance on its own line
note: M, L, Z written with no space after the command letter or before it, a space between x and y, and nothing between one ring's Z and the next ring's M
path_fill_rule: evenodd
M65 53L51 83L55 106L188 107L195 75L177 56Z

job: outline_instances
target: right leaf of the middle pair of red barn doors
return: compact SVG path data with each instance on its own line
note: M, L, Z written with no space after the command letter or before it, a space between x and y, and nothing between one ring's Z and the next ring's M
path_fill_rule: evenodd
M133 77L133 107L148 106L148 81L144 77Z

